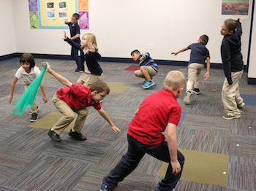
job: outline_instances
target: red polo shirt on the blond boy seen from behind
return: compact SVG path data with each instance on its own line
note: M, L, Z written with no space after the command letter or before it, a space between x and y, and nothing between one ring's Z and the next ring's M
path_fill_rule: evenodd
M129 123L128 134L143 144L156 145L165 140L162 132L167 123L178 125L181 106L171 90L151 93L140 104L138 112Z

